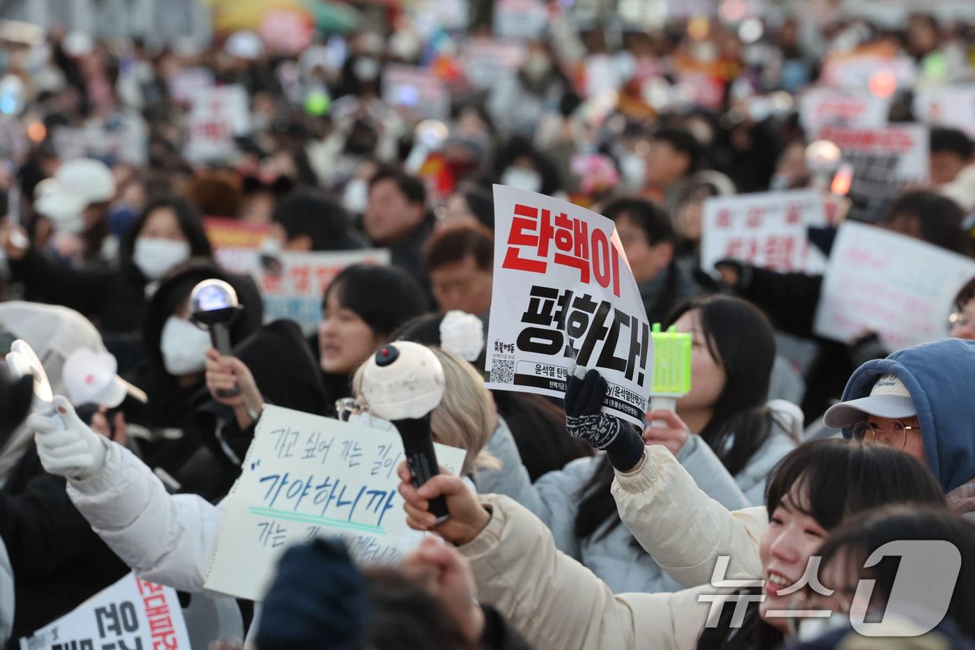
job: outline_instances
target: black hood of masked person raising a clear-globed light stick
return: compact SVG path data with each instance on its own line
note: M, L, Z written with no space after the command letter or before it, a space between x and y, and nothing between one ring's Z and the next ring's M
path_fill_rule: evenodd
M260 327L264 318L264 307L251 278L227 273L209 263L193 264L164 280L146 307L142 341L153 375L161 373L169 376L163 366L163 353L159 348L166 320L180 303L189 298L198 282L209 278L228 282L237 292L238 301L244 306L243 312L230 324L232 344L240 343Z

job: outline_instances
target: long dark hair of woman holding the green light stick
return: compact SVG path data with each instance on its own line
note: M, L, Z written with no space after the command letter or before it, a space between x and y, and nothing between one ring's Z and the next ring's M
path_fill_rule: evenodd
M678 305L665 326L684 313L697 310L711 356L725 373L722 393L701 439L715 452L732 476L744 469L771 434L774 417L765 408L768 383L775 361L772 326L761 311L738 298L709 296ZM784 427L783 427L784 428ZM593 477L579 492L575 517L579 538L594 535L605 523L606 535L620 523L616 503L609 493L613 471L604 457Z

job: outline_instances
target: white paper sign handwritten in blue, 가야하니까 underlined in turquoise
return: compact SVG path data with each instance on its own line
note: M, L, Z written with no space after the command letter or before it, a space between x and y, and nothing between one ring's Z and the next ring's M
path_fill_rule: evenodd
M466 452L434 444L456 474ZM418 536L407 527L395 431L265 406L226 498L206 588L259 600L289 545L340 538L363 563L396 564Z

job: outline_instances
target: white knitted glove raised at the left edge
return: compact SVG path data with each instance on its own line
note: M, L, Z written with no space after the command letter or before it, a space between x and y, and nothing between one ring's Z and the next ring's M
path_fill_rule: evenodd
M58 415L34 413L27 418L27 427L35 433L41 465L49 473L76 480L97 474L108 453L101 436L78 418L67 399L58 395L54 404Z

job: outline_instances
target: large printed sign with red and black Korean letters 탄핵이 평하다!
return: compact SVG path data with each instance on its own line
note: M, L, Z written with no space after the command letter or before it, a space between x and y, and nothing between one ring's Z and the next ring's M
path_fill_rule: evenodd
M575 359L609 385L603 410L642 426L653 343L613 223L494 185L494 231L487 386L561 397Z

